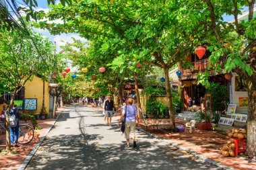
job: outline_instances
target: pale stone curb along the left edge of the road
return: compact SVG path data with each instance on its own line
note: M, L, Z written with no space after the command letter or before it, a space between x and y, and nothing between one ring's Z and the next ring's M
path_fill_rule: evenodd
M62 112L65 110L65 108L61 111L61 113L57 116L57 118L55 119L55 122L53 122L53 124L51 124L49 126L49 128L47 128L46 132L44 133L44 135L42 136L42 138L40 138L40 140L37 142L37 144L34 146L34 148L32 149L32 151L30 151L30 153L27 155L26 159L24 159L24 161L22 162L22 164L20 165L20 167L18 167L18 170L24 170L27 166L28 163L30 162L30 160L32 159L32 157L34 156L34 154L36 153L36 151L38 150L39 146L42 144L42 142L44 141L44 138L46 138L47 134L49 134L50 130L53 128L53 126L55 125L55 123L57 122L57 120L59 119L59 116L62 114Z

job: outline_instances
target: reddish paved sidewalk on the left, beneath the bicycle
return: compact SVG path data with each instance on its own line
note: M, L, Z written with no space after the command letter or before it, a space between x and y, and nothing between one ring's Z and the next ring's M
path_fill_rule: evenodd
M59 115L64 108L58 108L58 110L55 112L56 116ZM44 136L47 128L54 124L55 120L54 119L49 119L49 120L38 120L38 126L40 126L42 129L41 130L35 130L35 132L38 132L40 134L40 138ZM0 135L0 148L3 149L6 147L5 145L5 130L2 130L2 134ZM13 153L15 154L9 154L5 155L5 153L0 153L0 169L5 170L5 169L18 169L24 159L26 159L27 155L32 151L34 146L37 144L39 140L32 140L28 144L20 144L19 148L14 148L12 150Z

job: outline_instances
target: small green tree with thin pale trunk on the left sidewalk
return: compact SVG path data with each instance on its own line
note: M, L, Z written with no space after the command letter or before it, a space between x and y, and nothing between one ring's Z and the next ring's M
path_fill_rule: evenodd
M11 94L11 101L7 108L7 150L11 150L9 140L9 111L13 106L15 95L22 89L27 81L32 80L36 74L44 74L52 71L53 44L42 38L39 34L33 34L33 41L20 32L1 32L0 34L0 81L5 82L3 89ZM38 48L34 46L38 45ZM40 56L41 51L44 55ZM39 54L38 54L39 53Z

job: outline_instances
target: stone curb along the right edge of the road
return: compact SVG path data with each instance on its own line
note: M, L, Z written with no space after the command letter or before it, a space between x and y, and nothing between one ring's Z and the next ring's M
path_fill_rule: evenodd
M160 136L157 136L156 134L151 134L150 132L147 132L146 130L143 130L142 128L137 128L137 130L139 130L139 131L141 131L141 132L144 132L144 133L146 133L146 134L148 134L148 135L150 135L150 136L154 136L155 138L161 139L161 140L163 140L164 142L166 142L166 143L168 143L168 144L170 144L170 145L172 145L172 146L175 146L175 147L177 147L177 148L179 148L179 149L181 149L181 150L183 150L183 151L186 151L186 152L188 152L188 153L191 153L191 155L194 155L195 157L197 157L197 158L199 158L199 159L202 159L203 161L206 161L206 162L208 162L208 163L211 163L212 165L216 165L216 166L218 166L218 167L220 167L220 168L222 168L222 169L226 169L226 170L234 170L234 169L232 169L231 167L228 167L228 166L226 166L226 165L222 165L221 163L218 163L218 162L216 162L216 161L214 161L214 160L212 160L212 159L209 159L209 158L207 158L207 157L205 157L205 156L203 156L203 155L200 155L199 153L196 153L195 151L191 151L189 148L185 148L185 147L183 147L183 146L180 146L179 144L177 144L177 143L175 143L175 142L170 142L170 140L167 140L167 139L165 139L165 138L162 138L162 137L160 137Z

